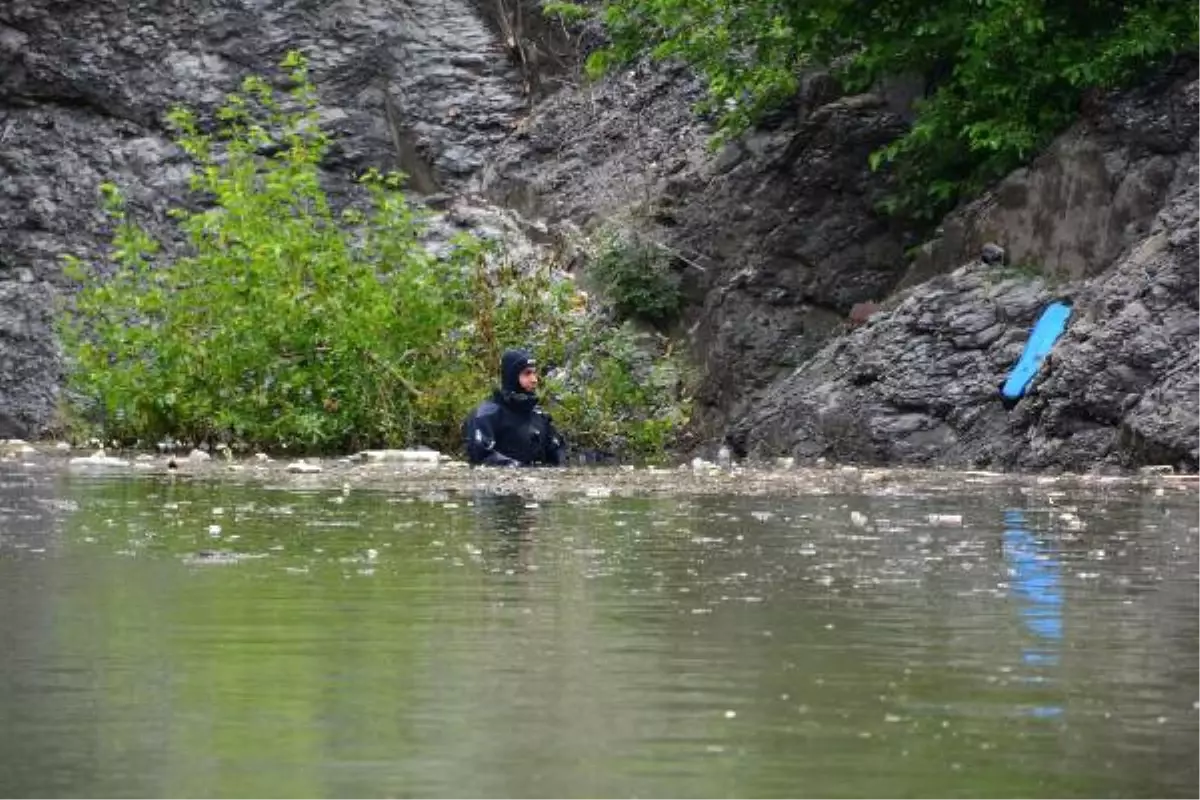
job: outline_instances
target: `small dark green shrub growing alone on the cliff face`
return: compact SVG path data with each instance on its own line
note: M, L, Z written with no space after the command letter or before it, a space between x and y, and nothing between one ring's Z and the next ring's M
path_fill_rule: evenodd
M671 255L632 234L599 236L588 276L623 319L670 323L679 313L683 295Z

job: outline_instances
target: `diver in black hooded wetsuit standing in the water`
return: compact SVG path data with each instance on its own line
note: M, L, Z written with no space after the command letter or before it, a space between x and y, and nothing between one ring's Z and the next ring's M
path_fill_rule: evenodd
M526 350L500 359L500 387L463 423L467 459L488 467L562 467L566 443L538 408L538 363Z

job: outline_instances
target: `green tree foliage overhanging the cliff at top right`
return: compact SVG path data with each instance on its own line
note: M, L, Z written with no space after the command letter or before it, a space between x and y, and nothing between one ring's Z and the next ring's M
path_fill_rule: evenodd
M1182 0L605 0L611 47L593 76L649 53L694 65L704 110L736 136L836 65L851 90L923 76L912 130L876 152L898 178L888 210L936 219L1043 148L1088 90L1118 88L1200 46Z

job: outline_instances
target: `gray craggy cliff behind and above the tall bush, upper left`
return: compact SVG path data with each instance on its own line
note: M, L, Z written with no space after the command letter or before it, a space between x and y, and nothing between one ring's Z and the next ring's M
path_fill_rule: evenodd
M143 218L182 199L172 104L211 108L296 48L337 137L331 181L378 166L437 192L528 106L529 70L505 44L517 18L481 0L0 4L0 437L53 417L53 287L62 254L103 241L97 186L119 184Z

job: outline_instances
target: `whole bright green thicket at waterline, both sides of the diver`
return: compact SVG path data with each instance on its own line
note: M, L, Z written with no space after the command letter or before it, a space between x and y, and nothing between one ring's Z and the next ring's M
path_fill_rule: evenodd
M187 110L168 115L206 203L172 210L186 241L178 253L132 219L115 186L103 187L110 263L70 260L77 290L60 315L72 415L89 433L127 444L452 451L504 347L565 365L623 339L548 263L516 265L467 236L431 254L401 175L371 172L362 200L335 212L319 182L328 142L316 92L300 56L284 67L286 96L248 78L215 132ZM592 417L608 422L604 435L661 444L641 431L671 416L673 396L631 386L626 372L612 359L592 384L557 386L563 403L551 410L564 432L589 420L572 444L604 444L593 441Z

